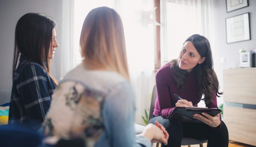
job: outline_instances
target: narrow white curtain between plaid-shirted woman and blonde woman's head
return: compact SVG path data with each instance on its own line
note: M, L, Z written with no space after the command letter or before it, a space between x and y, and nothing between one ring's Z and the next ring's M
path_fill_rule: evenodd
M62 78L75 67L73 0L62 0L61 30L60 77Z

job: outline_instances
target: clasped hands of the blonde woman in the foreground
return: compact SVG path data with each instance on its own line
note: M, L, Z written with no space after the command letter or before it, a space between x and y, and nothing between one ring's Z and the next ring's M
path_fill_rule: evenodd
M146 128L143 130L141 135L145 136L150 141L157 140L157 141L164 143L165 145L167 145L167 140L169 137L169 134L167 133L167 131L165 129L163 131L161 127L156 126L152 123L150 123L146 126Z

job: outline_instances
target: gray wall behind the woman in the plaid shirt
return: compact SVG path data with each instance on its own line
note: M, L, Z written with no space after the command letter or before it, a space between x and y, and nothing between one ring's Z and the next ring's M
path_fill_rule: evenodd
M18 19L29 12L53 17L58 26L57 41L61 44L62 0L0 0L0 89L11 89L14 33ZM60 48L56 48L51 74L59 79Z

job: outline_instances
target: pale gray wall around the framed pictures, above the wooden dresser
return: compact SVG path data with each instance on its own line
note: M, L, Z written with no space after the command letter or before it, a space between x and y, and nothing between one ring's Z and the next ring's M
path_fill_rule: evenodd
M215 58L214 69L218 76L221 90L223 90L223 70L239 67L239 49L246 48L247 51L256 49L256 0L248 0L249 6L226 12L225 0L214 0L214 24L215 24ZM225 19L249 12L250 36L251 40L226 43ZM220 63L220 58L225 58L225 63ZM235 79L234 79L235 80ZM225 92L225 91L224 91ZM225 94L224 94L225 95ZM222 96L222 98L224 97ZM223 100L219 99L218 104Z

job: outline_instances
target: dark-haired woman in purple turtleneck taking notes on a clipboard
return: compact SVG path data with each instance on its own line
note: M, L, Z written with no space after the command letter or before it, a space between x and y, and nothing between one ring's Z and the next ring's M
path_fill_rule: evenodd
M169 121L175 106L197 106L203 101L208 108L218 108L219 82L213 70L209 41L200 35L186 39L178 59L165 64L156 74L157 100L150 123L158 121L170 134L168 147L180 147L182 137L208 140L207 147L227 147L228 130L220 114L194 114L203 123ZM178 100L174 94L183 100ZM163 145L164 146L164 145Z

